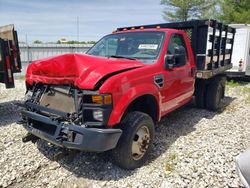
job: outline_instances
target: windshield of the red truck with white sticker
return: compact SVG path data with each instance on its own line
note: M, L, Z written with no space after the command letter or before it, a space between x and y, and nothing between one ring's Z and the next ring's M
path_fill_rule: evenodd
M152 64L159 56L163 41L164 32L158 31L111 34L98 41L87 54L139 59Z

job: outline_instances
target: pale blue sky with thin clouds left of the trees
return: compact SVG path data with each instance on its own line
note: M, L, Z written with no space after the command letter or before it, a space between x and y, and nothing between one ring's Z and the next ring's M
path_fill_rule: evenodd
M160 0L0 0L0 25L13 23L19 41L98 40L115 28L164 22Z

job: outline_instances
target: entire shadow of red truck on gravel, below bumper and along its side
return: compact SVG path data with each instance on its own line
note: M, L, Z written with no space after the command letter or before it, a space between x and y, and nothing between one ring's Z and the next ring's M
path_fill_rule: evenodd
M225 97L223 99L223 108L225 109L233 100L234 98ZM149 163L153 163L154 160L157 160L179 137L195 131L195 125L199 121L204 118L212 119L218 113L221 113L221 111L211 112L195 108L194 103L190 102L186 106L164 117L156 126L153 151L150 154L147 164L142 168L147 168ZM50 160L53 160L53 156L61 150L59 147L49 145L42 140L37 142L37 147L40 152ZM114 165L109 152L98 154L79 152L72 160L66 156L57 160L57 162L76 177L92 180L119 180L137 171L123 170Z

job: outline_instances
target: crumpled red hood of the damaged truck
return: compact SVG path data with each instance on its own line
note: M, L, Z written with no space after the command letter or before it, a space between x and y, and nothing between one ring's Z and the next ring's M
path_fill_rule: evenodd
M94 89L104 76L144 66L139 61L65 54L34 61L28 66L29 84L74 84L81 89Z

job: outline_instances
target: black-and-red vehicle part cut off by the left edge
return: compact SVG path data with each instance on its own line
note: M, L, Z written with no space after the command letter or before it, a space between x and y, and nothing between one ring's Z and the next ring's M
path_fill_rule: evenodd
M21 72L20 51L14 25L0 27L0 83L13 88L14 73Z

